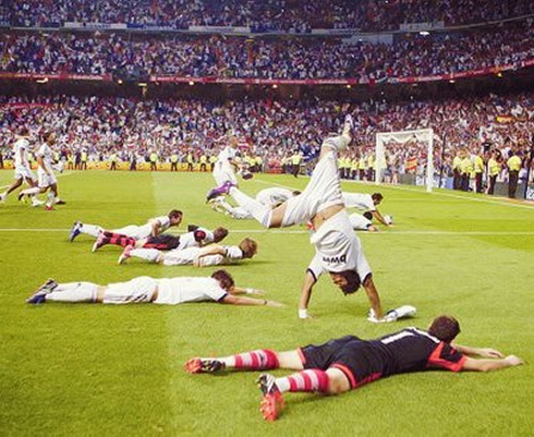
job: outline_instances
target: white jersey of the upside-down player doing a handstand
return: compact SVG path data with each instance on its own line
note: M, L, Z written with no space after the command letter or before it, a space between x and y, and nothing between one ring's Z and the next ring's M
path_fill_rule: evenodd
M315 279L327 271L355 270L363 282L371 274L362 244L352 230L345 210L339 211L325 221L312 235L311 241L315 244L316 254L308 270Z

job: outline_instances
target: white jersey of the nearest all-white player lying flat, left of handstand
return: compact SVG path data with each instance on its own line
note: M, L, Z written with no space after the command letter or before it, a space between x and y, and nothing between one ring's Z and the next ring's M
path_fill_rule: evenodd
M220 302L227 292L213 278L162 278L157 279L157 304L178 305L185 302Z

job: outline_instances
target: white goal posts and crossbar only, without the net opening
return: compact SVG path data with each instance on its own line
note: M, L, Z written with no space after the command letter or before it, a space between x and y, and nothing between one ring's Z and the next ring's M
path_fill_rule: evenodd
M432 129L418 129L414 131L399 131L399 132L378 132L376 134L376 171L375 182L377 184L383 182L384 171L387 168L386 160L386 145L389 143L406 144L411 141L420 143L427 143L427 162L425 185L426 191L432 192L434 185L434 131Z

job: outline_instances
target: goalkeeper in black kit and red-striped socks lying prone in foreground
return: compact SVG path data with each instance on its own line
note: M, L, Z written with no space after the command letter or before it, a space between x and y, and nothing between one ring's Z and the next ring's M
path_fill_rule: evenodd
M192 374L223 369L299 371L281 378L269 374L259 376L260 412L265 420L275 421L283 408L282 393L286 391L339 394L379 378L409 372L436 368L488 372L523 364L521 359L514 355L505 359L494 349L453 344L458 333L460 325L454 318L439 316L427 331L406 328L376 340L347 336L288 352L257 350L220 359L191 359L185 363L185 369Z

